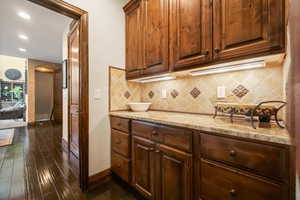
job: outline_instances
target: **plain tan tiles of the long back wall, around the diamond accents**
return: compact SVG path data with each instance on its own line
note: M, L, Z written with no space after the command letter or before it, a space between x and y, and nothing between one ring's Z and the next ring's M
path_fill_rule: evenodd
M247 71L229 72L198 77L180 78L171 81L161 81L143 84L142 101L153 103L151 109L212 114L213 99L217 96L217 87L226 87L226 96L233 96L235 102L257 104L267 100L283 99L282 67L273 66ZM248 93L239 98L233 90L242 85ZM197 98L191 91L197 88L201 93ZM160 97L161 90L166 89L166 99ZM171 92L176 90L178 96L173 98ZM153 98L149 92L153 91Z

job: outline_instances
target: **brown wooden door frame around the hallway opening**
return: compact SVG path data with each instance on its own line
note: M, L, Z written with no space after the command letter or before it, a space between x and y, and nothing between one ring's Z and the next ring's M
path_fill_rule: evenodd
M27 0L79 22L79 184L88 189L89 178L89 51L88 12L62 0Z

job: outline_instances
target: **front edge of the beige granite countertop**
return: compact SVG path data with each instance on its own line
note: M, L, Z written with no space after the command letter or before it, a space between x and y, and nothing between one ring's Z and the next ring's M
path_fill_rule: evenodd
M160 113L160 111L155 111L157 114ZM167 113L167 112L161 112L161 113ZM236 136L236 137L241 137L241 138L248 138L248 139L254 139L258 141L265 141L265 142L271 142L271 143L277 143L277 144L284 144L284 145L292 145L290 137L288 134L286 135L272 135L272 134L263 134L263 133L258 133L255 132L257 129L253 129L253 131L249 130L241 130L239 128L234 128L234 129L227 129L223 127L208 127L207 125L201 125L199 123L193 124L193 123L184 123L180 121L169 121L168 119L155 119L153 117L145 117L145 116L140 116L140 113L136 113L134 115L134 112L130 111L116 111L116 112L110 112L110 116L115 116L115 117L123 117L123 118L129 118L129 119L134 119L134 120L142 120L142 121L148 121L148 122L153 122L153 123L159 123L163 125L170 125L170 126L177 126L177 127L182 127L182 128L190 128L194 130L199 130L199 131L204 131L204 132L213 132L221 135L229 135L229 136ZM170 113L171 115L174 113ZM177 113L180 114L180 113ZM184 114L184 115L195 115L195 114ZM209 117L205 115L201 115L201 117ZM282 132L287 132L284 131L285 129L282 129Z

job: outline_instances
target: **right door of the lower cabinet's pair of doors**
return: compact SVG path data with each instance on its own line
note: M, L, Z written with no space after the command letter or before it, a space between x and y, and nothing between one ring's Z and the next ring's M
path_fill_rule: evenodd
M188 153L160 145L159 200L191 200L192 156Z

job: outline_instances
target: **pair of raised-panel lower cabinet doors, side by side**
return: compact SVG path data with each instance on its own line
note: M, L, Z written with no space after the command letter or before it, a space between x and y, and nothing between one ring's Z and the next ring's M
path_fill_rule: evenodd
M148 199L191 200L192 155L133 137L133 185Z

